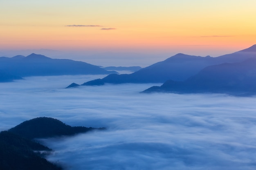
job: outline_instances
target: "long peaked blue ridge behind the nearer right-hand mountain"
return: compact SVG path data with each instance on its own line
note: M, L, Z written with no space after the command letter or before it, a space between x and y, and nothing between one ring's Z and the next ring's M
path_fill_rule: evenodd
M179 53L162 62L157 62L146 68L141 68L135 73L121 75L110 74L101 79L101 81L99 81L99 79L92 80L90 83L84 83L83 85L103 85L105 83L163 83L168 79L173 81L184 81L197 74L204 67L225 62L242 62L252 57L256 57L256 45L220 57L200 57Z

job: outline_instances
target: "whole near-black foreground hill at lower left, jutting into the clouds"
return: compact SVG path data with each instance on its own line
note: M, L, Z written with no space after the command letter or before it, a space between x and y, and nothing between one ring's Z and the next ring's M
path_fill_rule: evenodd
M96 129L104 128L72 127L49 117L24 121L8 131L0 132L0 170L61 170L60 166L44 158L51 154L52 149L32 139L74 135Z

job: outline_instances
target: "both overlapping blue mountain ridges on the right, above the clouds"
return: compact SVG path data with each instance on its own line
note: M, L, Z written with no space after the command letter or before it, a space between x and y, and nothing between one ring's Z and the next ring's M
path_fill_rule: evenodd
M82 85L165 82L160 87L154 86L144 92L254 95L255 59L256 45L219 57L179 53L132 74L110 74Z

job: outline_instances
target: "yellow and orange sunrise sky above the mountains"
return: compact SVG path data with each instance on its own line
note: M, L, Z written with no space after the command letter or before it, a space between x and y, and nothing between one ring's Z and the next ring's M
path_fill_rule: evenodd
M0 0L0 55L48 49L49 57L61 51L77 60L106 53L149 55L152 62L176 53L216 57L256 44L255 6L255 0Z

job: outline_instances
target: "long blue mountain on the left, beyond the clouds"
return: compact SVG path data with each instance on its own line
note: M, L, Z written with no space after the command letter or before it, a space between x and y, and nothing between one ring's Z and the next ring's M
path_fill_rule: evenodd
M52 59L44 55L32 53L27 57L0 57L0 69L10 75L45 76L45 75L82 75L111 74L116 71L106 71L99 66L86 62L67 59Z

